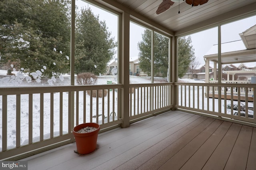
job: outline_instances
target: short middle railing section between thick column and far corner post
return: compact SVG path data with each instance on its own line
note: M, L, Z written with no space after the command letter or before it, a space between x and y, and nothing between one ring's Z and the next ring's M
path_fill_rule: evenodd
M130 85L130 121L170 110L173 83Z

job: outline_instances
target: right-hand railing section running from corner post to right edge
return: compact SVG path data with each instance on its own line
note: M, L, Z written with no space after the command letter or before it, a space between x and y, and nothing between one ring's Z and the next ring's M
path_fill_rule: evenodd
M193 113L256 123L256 87L238 83L175 83L178 89L176 108ZM216 89L210 91L209 89ZM230 94L226 90L231 89ZM234 91L237 89L237 95ZM240 92L244 90L244 95ZM251 93L252 92L252 93ZM252 96L252 95L253 96Z

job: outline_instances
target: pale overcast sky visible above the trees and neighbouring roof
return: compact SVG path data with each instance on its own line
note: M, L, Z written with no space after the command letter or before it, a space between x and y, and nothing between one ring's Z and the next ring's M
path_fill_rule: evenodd
M79 9L82 6L86 6L86 8L90 7L94 15L99 15L99 20L106 21L109 32L112 33L112 37L114 37L117 41L117 16L90 4L87 4L81 0L76 0L76 5ZM254 25L256 25L256 16L223 25L221 27L222 43L241 40L239 34ZM144 30L144 28L136 24L130 24L130 57L138 56L138 42L142 40L141 35ZM190 36L192 38L192 45L195 50L195 56L198 58L199 61L202 61L204 63L203 56L210 50L210 48L214 44L218 43L218 28L212 28L209 30L198 32L196 34L191 34Z

